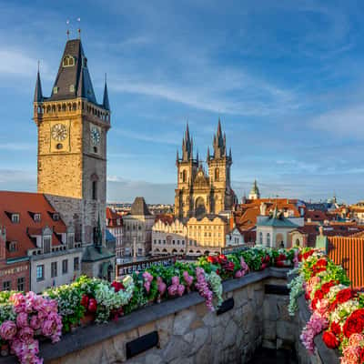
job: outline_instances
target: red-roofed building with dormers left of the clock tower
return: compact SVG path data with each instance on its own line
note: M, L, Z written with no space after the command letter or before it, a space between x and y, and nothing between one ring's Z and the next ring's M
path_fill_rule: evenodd
M66 227L43 194L0 191L0 226L6 262L2 289L42 292L81 274L83 250L75 242L75 230ZM16 282L4 274L13 267Z

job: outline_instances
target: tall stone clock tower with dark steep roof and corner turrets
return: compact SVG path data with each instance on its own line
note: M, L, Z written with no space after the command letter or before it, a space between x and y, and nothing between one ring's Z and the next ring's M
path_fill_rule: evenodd
M110 106L106 84L103 103L96 101L81 39L67 40L51 96L43 95L38 71L34 120L38 192L74 225L78 241L102 246Z

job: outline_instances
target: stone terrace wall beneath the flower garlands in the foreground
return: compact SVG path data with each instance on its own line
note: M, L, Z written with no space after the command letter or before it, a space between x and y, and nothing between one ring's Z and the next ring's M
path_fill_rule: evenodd
M303 314L289 317L286 273L268 268L224 282L224 299L234 298L235 305L220 315L208 311L194 292L142 308L117 322L77 329L56 345L43 343L41 356L52 364L247 363L263 346L296 347L303 364L337 362L308 358L298 343L309 313L303 301ZM126 359L126 343L156 331L157 346ZM327 351L337 359L333 350ZM11 357L0 359L0 364L13 362Z

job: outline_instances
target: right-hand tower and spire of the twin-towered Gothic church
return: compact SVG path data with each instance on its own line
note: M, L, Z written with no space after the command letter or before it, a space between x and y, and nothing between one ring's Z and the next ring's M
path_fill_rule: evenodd
M213 154L207 150L208 175L213 189L212 208L215 213L232 209L234 205L234 192L231 189L230 168L233 163L231 149L227 155L227 140L222 133L221 122L218 119L217 134L214 135Z

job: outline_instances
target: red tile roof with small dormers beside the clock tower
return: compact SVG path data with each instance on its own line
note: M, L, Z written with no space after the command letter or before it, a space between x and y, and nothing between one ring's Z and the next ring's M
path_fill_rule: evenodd
M19 223L12 223L9 212L18 213ZM36 222L32 212L41 214ZM50 227L54 232L66 233L65 223L52 218L56 210L50 205L43 194L30 192L0 191L0 226L6 227L6 241L16 241L17 250L9 252L6 258L21 258L27 255L28 249L33 249L35 243L30 235L39 235L44 227ZM52 245L61 244L56 234L53 234Z

